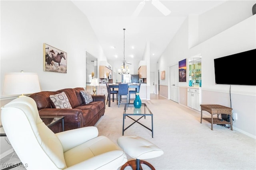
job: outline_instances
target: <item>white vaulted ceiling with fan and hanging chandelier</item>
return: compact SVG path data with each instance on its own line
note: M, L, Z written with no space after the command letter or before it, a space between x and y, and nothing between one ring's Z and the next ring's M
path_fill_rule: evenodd
M142 59L146 42L150 42L150 60L156 61L188 15L202 14L226 0L160 0L171 11L167 16L152 5L152 0L144 1L138 16L133 13L143 0L72 2L88 18L107 59L121 62L125 50L125 60L132 63L135 58Z

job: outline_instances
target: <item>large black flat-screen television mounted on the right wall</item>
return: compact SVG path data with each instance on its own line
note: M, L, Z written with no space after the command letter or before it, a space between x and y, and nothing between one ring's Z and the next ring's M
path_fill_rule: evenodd
M215 84L256 85L256 49L214 59Z

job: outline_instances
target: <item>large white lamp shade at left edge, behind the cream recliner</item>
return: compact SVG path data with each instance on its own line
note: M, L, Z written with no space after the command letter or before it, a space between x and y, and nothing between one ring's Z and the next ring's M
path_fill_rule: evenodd
M38 75L32 72L11 72L5 75L3 94L31 94L40 92Z

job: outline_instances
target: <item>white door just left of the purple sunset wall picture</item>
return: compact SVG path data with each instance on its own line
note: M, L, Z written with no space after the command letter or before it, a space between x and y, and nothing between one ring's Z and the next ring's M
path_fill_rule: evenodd
M179 102L179 66L170 66L170 100Z

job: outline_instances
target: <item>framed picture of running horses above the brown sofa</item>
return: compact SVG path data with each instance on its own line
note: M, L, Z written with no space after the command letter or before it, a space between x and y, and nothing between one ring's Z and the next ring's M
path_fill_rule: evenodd
M67 73L68 55L66 52L44 43L43 53L44 71Z

